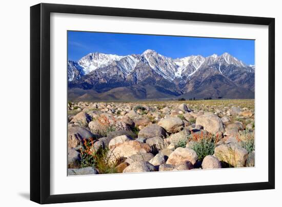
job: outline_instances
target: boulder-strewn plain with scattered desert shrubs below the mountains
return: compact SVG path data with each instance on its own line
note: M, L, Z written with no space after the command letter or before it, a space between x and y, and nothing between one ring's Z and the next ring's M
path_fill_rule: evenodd
M254 167L254 100L69 102L68 112L68 175Z

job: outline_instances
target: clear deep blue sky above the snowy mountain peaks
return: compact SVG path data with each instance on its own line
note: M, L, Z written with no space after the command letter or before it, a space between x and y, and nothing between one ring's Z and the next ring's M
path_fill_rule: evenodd
M228 52L254 65L254 40L68 31L68 59L77 61L91 52L129 55L152 49L177 58L221 55Z

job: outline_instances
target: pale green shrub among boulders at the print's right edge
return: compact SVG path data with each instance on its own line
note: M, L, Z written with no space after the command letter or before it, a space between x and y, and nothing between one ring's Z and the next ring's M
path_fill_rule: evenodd
M239 135L237 136L237 140L240 146L245 148L248 153L253 152L255 150L255 138L253 131L240 131Z

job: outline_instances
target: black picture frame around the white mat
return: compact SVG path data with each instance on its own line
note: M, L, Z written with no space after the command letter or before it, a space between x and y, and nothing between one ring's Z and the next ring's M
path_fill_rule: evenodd
M200 22L267 25L268 39L268 181L196 187L144 189L50 195L50 13L92 14L190 20ZM173 196L275 188L275 19L266 17L218 15L143 9L77 5L37 4L30 8L30 200L62 203L109 199Z

